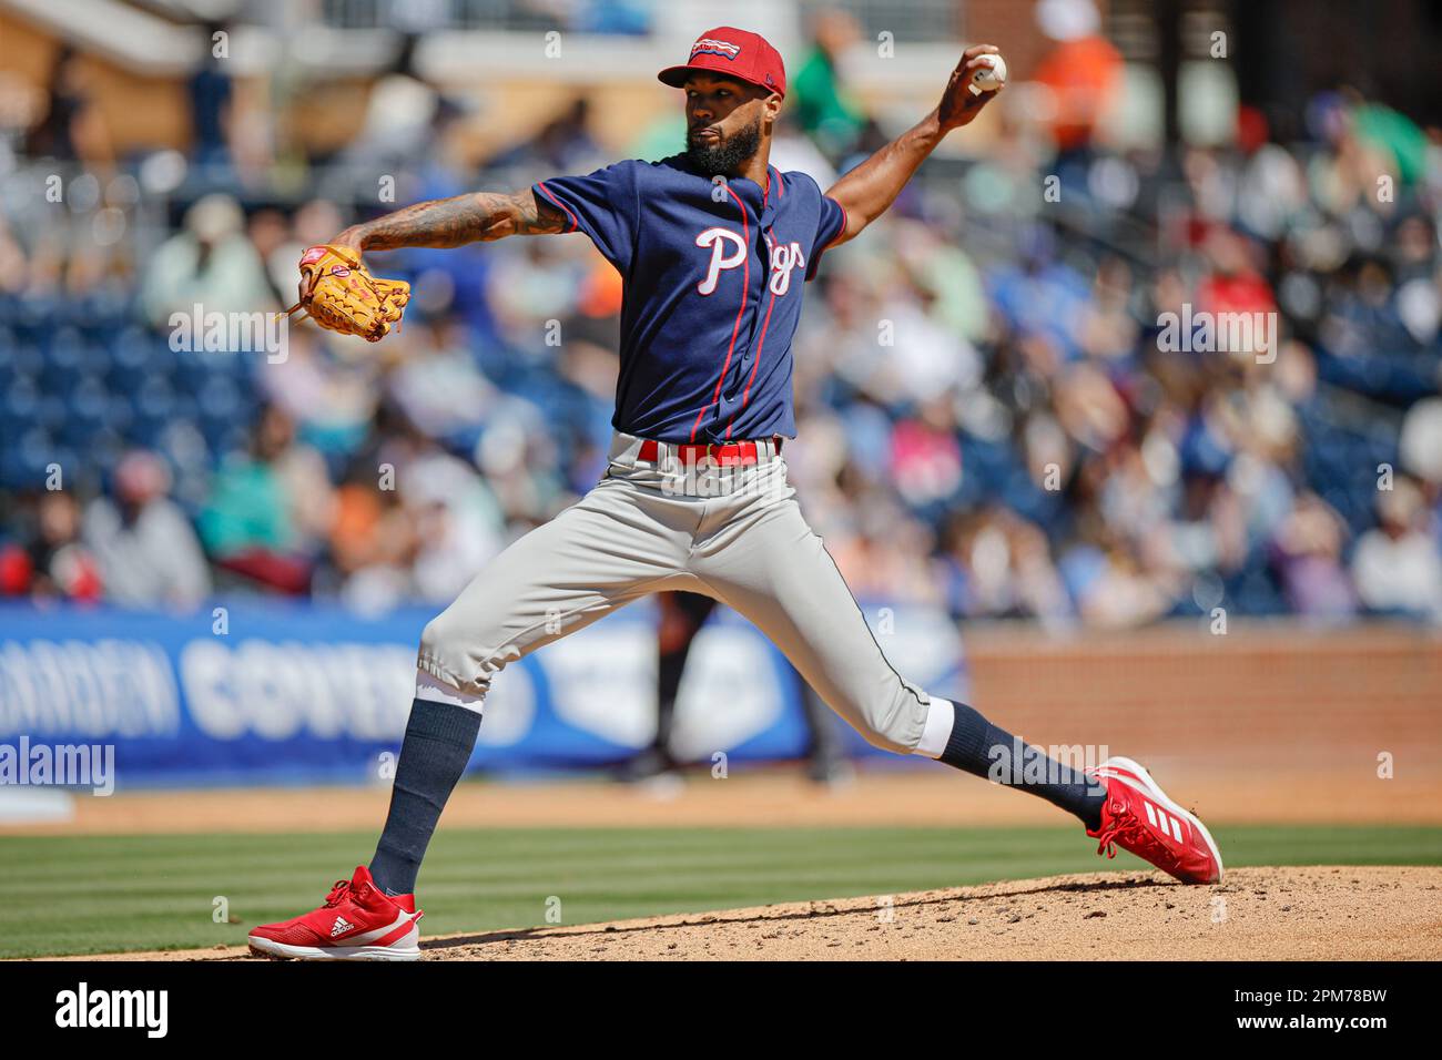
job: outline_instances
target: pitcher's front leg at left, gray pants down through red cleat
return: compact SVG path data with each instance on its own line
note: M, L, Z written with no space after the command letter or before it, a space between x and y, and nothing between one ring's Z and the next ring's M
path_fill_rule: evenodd
M577 505L516 541L425 626L415 701L369 868L326 904L251 932L267 956L420 956L415 877L447 799L470 760L492 678L544 643L596 622L681 573L694 509L603 480Z

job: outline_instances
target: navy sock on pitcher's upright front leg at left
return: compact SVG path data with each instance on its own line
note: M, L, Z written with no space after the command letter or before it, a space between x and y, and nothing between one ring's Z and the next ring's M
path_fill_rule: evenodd
M480 731L480 714L417 699L395 763L391 812L371 860L371 877L386 894L412 894L421 858Z

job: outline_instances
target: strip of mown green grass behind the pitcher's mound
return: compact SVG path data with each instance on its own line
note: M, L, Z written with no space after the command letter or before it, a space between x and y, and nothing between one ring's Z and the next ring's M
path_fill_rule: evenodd
M0 958L239 945L320 904L372 832L0 838ZM1442 864L1442 828L1217 829L1227 864ZM448 829L421 873L427 935L887 894L1096 868L1071 828ZM239 923L215 923L224 896Z

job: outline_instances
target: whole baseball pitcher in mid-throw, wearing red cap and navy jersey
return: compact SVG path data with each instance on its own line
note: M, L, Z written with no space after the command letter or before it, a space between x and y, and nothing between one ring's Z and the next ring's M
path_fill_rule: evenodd
M601 480L496 557L425 626L369 867L337 881L320 909L257 927L257 953L420 956L417 873L495 675L617 607L678 588L756 623L872 744L1041 796L1076 815L1097 852L1120 847L1184 883L1221 878L1207 829L1135 761L1076 772L897 673L786 483L805 284L825 251L881 216L932 150L996 94L972 91L995 53L968 48L930 114L822 192L769 164L786 100L780 55L756 33L721 26L659 74L684 94L684 153L513 195L418 203L307 251L301 303L311 316L379 337L407 293L394 281L362 283L363 251L583 232L624 280L620 378Z

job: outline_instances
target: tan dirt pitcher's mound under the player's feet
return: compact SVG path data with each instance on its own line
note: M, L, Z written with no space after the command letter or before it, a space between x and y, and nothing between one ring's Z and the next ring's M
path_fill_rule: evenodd
M423 946L427 960L1436 960L1442 867L1239 868L1217 887L1182 887L1161 873L1087 873ZM115 956L244 959L245 950Z

